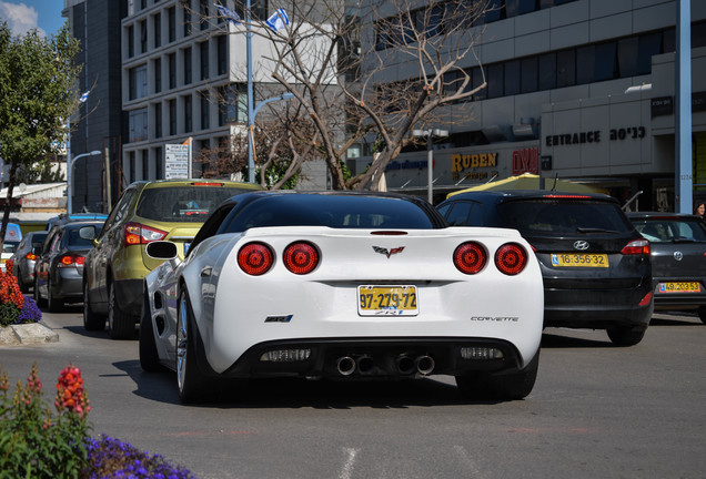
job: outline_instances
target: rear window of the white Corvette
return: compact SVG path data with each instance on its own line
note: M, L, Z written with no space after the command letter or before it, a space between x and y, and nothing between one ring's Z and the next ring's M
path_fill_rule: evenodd
M248 205L228 225L228 233L262 226L329 226L334 228L434 228L416 204L395 197L347 195L280 195Z

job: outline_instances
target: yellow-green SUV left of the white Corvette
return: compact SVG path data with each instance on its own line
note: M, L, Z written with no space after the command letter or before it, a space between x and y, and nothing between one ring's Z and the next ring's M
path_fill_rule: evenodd
M224 200L259 185L230 181L160 180L132 183L93 241L83 269L83 326L113 339L134 337L142 315L142 281L161 261L144 246L169 240L183 259L209 214Z

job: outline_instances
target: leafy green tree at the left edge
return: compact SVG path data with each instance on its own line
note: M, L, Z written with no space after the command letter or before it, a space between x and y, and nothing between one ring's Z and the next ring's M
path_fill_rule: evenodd
M67 120L79 104L74 91L81 71L74 63L78 52L79 42L68 24L50 38L37 30L12 37L7 23L0 24L0 157L10 165L0 247L18 170L51 155L52 143L63 140Z

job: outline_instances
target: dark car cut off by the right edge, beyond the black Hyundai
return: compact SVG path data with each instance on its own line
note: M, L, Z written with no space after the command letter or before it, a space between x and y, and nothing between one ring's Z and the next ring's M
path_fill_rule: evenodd
M639 212L627 216L649 240L656 309L695 309L706 324L706 224L699 216Z

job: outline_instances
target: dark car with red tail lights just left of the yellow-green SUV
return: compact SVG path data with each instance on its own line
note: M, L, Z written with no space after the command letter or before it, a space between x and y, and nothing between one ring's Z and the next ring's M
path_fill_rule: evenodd
M70 222L51 228L34 265L37 304L47 302L50 312L58 312L64 303L83 300L85 255L102 227L102 222Z

